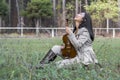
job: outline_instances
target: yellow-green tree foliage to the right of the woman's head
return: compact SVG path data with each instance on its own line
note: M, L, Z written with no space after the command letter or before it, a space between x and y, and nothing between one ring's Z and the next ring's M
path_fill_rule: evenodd
M86 10L91 13L92 18L98 23L105 19L114 19L118 16L118 6L116 1L94 1L91 5L85 6Z

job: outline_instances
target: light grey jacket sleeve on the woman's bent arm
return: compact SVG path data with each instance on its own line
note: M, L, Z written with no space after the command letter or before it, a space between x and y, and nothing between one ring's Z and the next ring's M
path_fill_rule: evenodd
M89 32L87 29L82 28L81 34L78 39L76 39L75 34L72 32L68 35L68 38L69 38L70 42L72 43L72 45L76 49L78 49L89 39Z

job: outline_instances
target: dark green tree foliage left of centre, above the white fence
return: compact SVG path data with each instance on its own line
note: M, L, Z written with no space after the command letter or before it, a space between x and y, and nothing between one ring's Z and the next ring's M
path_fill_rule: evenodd
M31 0L22 15L28 18L49 17L52 15L52 4L50 0Z

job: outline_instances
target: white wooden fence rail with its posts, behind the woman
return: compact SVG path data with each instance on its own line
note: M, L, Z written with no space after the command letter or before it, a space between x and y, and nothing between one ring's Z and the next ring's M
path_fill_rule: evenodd
M72 29L72 28L71 28ZM56 33L58 30L63 30L65 31L65 28L63 27L59 27L59 28L51 28L51 27L47 27L47 28L43 28L43 27L0 27L0 34L2 33L2 30L19 30L19 34L20 34L20 37L23 37L24 36L24 30L35 30L35 34L36 36L40 33L39 31L40 30L49 30L50 33L49 35L51 37L55 37L56 36ZM116 34L120 33L120 28L93 28L94 30L94 34L95 36L97 36L98 34L99 35L111 35L113 38L117 37Z

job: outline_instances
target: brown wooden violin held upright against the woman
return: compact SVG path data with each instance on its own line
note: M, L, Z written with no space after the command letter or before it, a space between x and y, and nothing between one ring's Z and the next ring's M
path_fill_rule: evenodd
M66 26L68 26L68 19L66 19ZM66 59L74 58L77 55L77 52L68 38L68 34L63 35L62 37L65 47L61 49L62 56Z

